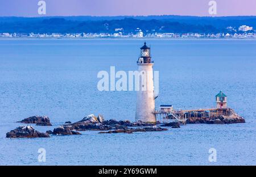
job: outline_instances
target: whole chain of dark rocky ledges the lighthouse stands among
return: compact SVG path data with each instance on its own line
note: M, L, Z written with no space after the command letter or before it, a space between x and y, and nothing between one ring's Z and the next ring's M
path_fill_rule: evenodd
M217 111L216 111L217 110ZM221 112L220 112L221 111ZM188 114L188 113L187 113ZM245 119L238 115L233 109L214 109L214 112L197 111L189 112L188 124L233 124L233 123L245 123ZM168 117L167 119L171 119ZM31 116L18 123L36 124L43 126L51 126L49 117L47 116ZM36 131L30 125L20 126L11 132L6 133L6 138L36 138L36 137L50 137L52 135L80 135L79 131L95 130L100 131L98 133L134 133L134 132L159 132L168 130L166 127L180 128L179 121L172 121L168 123L143 123L142 121L130 122L129 120L105 120L104 117L99 114L98 116L88 115L82 120L75 123L66 121L65 124L60 125L52 130L48 130L46 133Z

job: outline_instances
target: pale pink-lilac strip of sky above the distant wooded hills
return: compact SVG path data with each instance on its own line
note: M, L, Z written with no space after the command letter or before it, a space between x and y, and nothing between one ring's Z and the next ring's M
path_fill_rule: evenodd
M39 0L0 0L0 16L195 15L208 13L210 0L45 0L46 15L38 15ZM256 15L256 0L216 0L217 15Z

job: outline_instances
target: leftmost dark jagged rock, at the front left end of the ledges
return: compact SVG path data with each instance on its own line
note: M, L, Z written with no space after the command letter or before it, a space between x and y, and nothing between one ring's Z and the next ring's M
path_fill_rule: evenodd
M28 126L20 126L11 132L6 133L6 138L46 138L49 137L47 133L40 133Z

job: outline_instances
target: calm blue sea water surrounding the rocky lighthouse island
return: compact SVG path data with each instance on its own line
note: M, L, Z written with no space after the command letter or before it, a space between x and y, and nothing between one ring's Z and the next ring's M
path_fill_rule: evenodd
M256 165L256 40L148 39L160 92L156 107L214 107L222 90L245 124L185 125L166 132L6 139L32 115L53 129L91 113L134 120L134 91L97 90L100 70L136 70L141 39L1 39L0 165ZM38 162L38 149L46 162ZM217 150L217 162L208 150Z

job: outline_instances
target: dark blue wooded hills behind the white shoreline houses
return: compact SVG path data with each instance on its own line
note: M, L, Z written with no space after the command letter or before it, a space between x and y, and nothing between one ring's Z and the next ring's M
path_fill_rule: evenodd
M256 16L197 17L197 16L69 16L21 18L0 17L0 33L218 33L228 32L226 27L241 25L256 27Z

